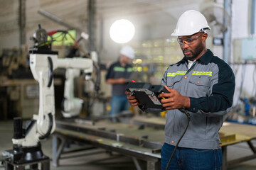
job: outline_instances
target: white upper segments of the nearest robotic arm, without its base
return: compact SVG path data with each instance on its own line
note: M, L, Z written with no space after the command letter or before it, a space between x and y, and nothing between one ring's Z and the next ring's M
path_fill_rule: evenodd
M92 60L86 58L60 59L58 55L32 53L30 55L30 67L34 79L39 82L39 113L38 115L34 115L33 119L37 120L36 135L38 139L41 139L55 130L53 70L56 68L65 68L78 72L78 70L82 69L85 73L91 73L93 65ZM73 89L70 89L70 91L73 93ZM50 130L51 126L52 128Z

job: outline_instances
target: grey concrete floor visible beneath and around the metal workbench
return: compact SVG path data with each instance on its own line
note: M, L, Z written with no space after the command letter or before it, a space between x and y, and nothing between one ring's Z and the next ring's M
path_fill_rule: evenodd
M9 121L0 121L0 154L6 149L12 148L11 138L13 137L13 123ZM252 141L256 146L256 141ZM52 137L42 143L44 154L52 157ZM228 147L228 160L239 158L252 154L252 151L247 147L247 143L240 143ZM142 169L146 169L146 162L139 161ZM0 170L3 168L0 166ZM132 158L124 157L117 153L107 153L103 149L92 149L90 152L80 152L79 154L65 155L65 159L60 159L60 166L55 167L50 164L51 170L126 170L136 169ZM230 168L229 170L255 170L256 159L244 162Z

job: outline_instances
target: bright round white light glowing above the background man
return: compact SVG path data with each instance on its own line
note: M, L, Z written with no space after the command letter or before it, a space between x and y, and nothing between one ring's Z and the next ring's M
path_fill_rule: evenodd
M135 33L134 25L131 21L120 19L114 21L110 26L110 38L117 43L126 43L132 40Z

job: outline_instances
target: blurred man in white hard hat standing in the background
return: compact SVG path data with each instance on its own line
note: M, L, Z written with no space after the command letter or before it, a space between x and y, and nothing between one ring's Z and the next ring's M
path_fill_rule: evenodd
M122 111L127 111L130 107L125 95L125 89L132 75L132 65L129 63L134 59L134 49L129 45L124 45L119 53L119 60L110 66L106 76L107 84L112 84L110 111L112 116L118 115ZM115 118L112 120L117 121Z

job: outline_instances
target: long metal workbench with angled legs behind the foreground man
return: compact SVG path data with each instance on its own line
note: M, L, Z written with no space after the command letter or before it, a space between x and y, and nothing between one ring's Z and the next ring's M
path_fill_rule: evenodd
M111 123L109 120L97 122L72 122L56 120L53 134L53 165L59 166L60 154L67 140L75 140L112 152L132 157L137 169L141 169L137 159L146 161L148 170L160 169L161 146L164 144L165 118L137 116L121 119L122 123ZM224 123L220 129L220 140L223 143L223 170L241 162L256 158L256 148L252 140L256 139L256 127ZM252 155L227 161L227 147L240 142L247 142Z

